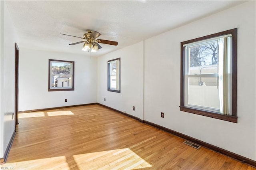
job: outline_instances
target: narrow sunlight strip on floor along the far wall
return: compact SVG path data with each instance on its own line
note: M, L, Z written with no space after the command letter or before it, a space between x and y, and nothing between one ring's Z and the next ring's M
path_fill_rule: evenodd
M47 117L47 116L64 116L64 115L74 115L74 113L72 113L72 111L52 111L52 112L19 113L19 118Z

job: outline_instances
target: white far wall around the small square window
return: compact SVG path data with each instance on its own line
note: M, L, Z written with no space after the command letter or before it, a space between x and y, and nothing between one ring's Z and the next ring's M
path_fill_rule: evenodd
M75 62L74 91L48 91L49 59ZM20 47L19 71L19 111L97 102L95 57Z

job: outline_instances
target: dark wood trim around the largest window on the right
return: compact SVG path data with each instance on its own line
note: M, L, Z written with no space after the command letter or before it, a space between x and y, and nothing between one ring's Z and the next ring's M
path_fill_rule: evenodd
M186 107L185 106L186 94L185 94L185 84L184 84L185 82L185 48L183 47L183 45L192 43L192 42L197 42L200 40L206 40L209 38L226 35L226 34L232 34L232 115L221 115L219 113ZM237 115L236 115L237 105L236 104L237 104L237 28L226 30L216 34L211 34L208 36L203 36L200 38L195 38L185 42L181 42L180 43L180 111L237 123Z

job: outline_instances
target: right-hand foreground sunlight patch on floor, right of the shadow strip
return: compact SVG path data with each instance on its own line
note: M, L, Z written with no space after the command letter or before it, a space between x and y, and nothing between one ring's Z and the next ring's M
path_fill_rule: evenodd
M73 156L76 165L82 169L139 169L152 167L129 148L78 154Z

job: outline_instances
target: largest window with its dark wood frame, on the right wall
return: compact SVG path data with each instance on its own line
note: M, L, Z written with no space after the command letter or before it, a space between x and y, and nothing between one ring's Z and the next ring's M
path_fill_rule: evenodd
M181 42L180 110L237 123L237 29Z

